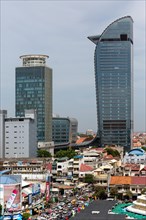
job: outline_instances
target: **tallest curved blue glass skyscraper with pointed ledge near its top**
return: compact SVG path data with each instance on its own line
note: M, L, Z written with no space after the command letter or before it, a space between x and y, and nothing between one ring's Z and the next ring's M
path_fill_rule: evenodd
M122 17L88 37L94 54L100 145L131 147L133 124L133 20Z

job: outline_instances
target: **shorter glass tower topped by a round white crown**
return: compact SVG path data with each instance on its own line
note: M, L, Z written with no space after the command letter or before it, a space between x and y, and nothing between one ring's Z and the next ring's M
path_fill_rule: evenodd
M16 68L16 116L27 109L37 112L37 140L52 140L52 69L47 55L24 55L22 67Z

